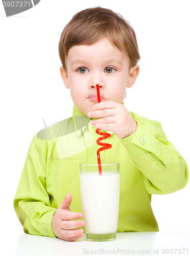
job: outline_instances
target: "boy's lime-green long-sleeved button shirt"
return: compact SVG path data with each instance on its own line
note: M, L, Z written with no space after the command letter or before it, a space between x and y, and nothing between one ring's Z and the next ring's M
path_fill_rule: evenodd
M188 167L159 122L129 113L138 124L136 132L123 139L108 132L111 137L102 142L112 147L100 152L101 162L120 163L117 232L158 231L151 194L170 194L185 187ZM14 199L26 233L55 238L53 214L67 193L73 197L70 210L82 212L79 164L98 163L100 137L90 118L75 105L72 117L34 135Z

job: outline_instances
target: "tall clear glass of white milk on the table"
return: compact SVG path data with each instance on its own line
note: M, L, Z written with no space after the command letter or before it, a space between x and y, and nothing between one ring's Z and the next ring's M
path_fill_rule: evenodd
M85 234L88 241L116 237L120 197L120 163L80 163L80 188Z

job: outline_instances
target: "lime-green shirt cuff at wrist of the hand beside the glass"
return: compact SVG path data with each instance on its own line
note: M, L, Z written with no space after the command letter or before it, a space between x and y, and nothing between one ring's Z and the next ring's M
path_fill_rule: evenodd
M57 238L54 234L54 231L52 229L52 218L54 213L57 209L47 211L45 214L43 214L39 220L39 231L42 234L42 236L50 237L50 238Z

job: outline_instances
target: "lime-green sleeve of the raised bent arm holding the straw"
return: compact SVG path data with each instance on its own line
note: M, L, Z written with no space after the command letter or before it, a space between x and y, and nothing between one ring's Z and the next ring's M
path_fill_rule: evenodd
M161 124L134 118L137 130L120 139L137 168L149 194L170 194L185 187L188 167L184 158L168 141Z

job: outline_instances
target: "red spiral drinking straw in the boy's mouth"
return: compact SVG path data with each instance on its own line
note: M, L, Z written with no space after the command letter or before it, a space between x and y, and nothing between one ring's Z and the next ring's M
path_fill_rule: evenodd
M100 89L99 89L99 84L96 85L97 86L97 96L98 96L98 103L101 102L100 100ZM99 135L104 135L103 137L100 137L99 139L97 139L97 144L103 147L100 147L97 151L97 158L98 158L98 168L99 168L99 175L102 175L102 167L101 167L101 159L100 159L100 151L103 150L108 150L108 148L111 148L111 144L109 143L103 143L100 142L101 140L105 140L109 137L111 137L111 134L109 133L103 133L103 132L99 132L101 129L96 129L96 133Z

